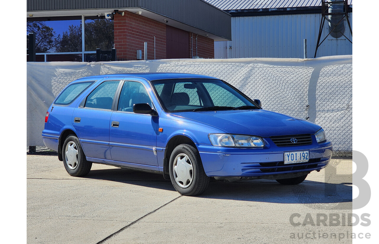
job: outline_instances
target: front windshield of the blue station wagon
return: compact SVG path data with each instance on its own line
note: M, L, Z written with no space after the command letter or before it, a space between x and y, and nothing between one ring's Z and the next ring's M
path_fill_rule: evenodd
M164 79L152 83L168 112L259 109L246 95L219 79Z

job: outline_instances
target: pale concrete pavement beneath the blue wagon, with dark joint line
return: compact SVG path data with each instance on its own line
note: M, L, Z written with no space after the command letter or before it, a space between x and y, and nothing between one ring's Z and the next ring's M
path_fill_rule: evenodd
M158 174L93 164L78 178L27 155L27 242L352 243L352 160L328 167L300 185L212 181L187 197Z

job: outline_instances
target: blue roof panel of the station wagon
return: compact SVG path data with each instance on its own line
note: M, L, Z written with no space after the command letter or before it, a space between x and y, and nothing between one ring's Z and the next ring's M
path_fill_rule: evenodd
M80 81L82 79L103 79L103 78L112 78L112 77L136 77L136 78L144 78L148 81L160 80L160 79L183 79L183 78L205 78L205 79L217 79L211 76L206 75L195 75L195 74L186 74L186 73L119 73L119 74L109 74L109 75L96 75L96 76L88 76L77 79Z

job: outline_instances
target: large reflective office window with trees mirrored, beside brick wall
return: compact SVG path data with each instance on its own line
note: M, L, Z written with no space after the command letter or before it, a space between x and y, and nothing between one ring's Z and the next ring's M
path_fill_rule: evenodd
M113 20L97 16L67 18L70 19L39 18L27 22L27 34L36 35L37 62L94 62L96 48L114 47ZM28 45L27 42L27 48Z

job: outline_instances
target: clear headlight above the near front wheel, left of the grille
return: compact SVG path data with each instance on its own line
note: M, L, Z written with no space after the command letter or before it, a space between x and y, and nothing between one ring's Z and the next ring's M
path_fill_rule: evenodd
M213 146L263 147L263 139L251 135L209 134Z

